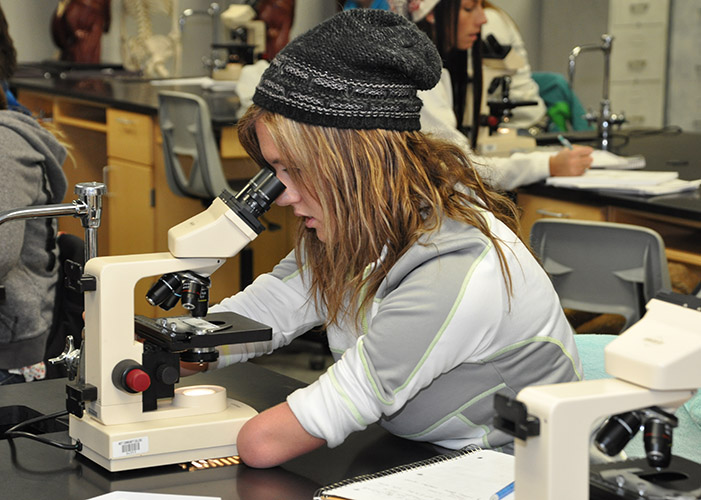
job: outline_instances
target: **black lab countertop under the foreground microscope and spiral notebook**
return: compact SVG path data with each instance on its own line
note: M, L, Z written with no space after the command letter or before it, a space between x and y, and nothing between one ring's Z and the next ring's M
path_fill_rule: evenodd
M186 379L187 385L214 383L229 397L263 410L284 401L302 382L243 363ZM43 414L64 409L65 379L0 387L0 416L8 406ZM1 421L0 421L1 423ZM4 429L3 429L4 430ZM45 434L68 442L67 431ZM110 491L140 491L221 497L222 500L282 498L310 500L320 486L422 460L437 447L392 436L377 425L351 435L341 446L323 447L273 469L245 465L185 471L177 465L107 472L73 451L28 439L0 440L0 498L85 500Z

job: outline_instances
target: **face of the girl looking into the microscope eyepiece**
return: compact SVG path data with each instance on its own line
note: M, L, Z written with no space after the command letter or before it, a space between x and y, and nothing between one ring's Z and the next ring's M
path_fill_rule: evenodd
M294 214L304 219L304 225L308 229L315 229L316 237L321 241L325 241L326 235L322 224L324 214L321 210L321 205L303 186L298 186L290 179L287 166L283 165L280 159L280 153L273 142L268 127L260 121L256 123L256 134L263 158L268 162L268 165L273 167L275 175L286 188L275 200L275 203L281 207L291 206L294 209Z

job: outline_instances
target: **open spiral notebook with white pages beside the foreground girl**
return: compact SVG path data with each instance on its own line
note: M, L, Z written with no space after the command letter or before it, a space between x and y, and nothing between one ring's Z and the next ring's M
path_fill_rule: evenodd
M512 455L470 446L325 486L314 500L490 500L513 481Z

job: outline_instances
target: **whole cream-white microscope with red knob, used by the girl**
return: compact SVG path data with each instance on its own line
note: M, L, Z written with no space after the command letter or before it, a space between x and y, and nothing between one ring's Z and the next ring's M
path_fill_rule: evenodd
M224 192L171 228L170 252L86 263L94 286L85 292L79 374L67 386L69 435L81 454L110 471L236 454L238 431L256 411L227 399L223 387L174 384L180 358L213 360L217 345L271 338L269 327L250 319L206 314L206 285L263 230L257 217L283 190L273 172L261 170L237 195ZM168 309L181 298L194 317L135 319L134 285L164 273L149 301Z

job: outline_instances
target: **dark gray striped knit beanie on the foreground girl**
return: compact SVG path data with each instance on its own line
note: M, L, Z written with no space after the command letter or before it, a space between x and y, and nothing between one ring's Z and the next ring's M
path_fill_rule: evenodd
M414 23L389 11L352 9L280 51L253 102L311 125L419 130L416 91L440 76L438 51Z

